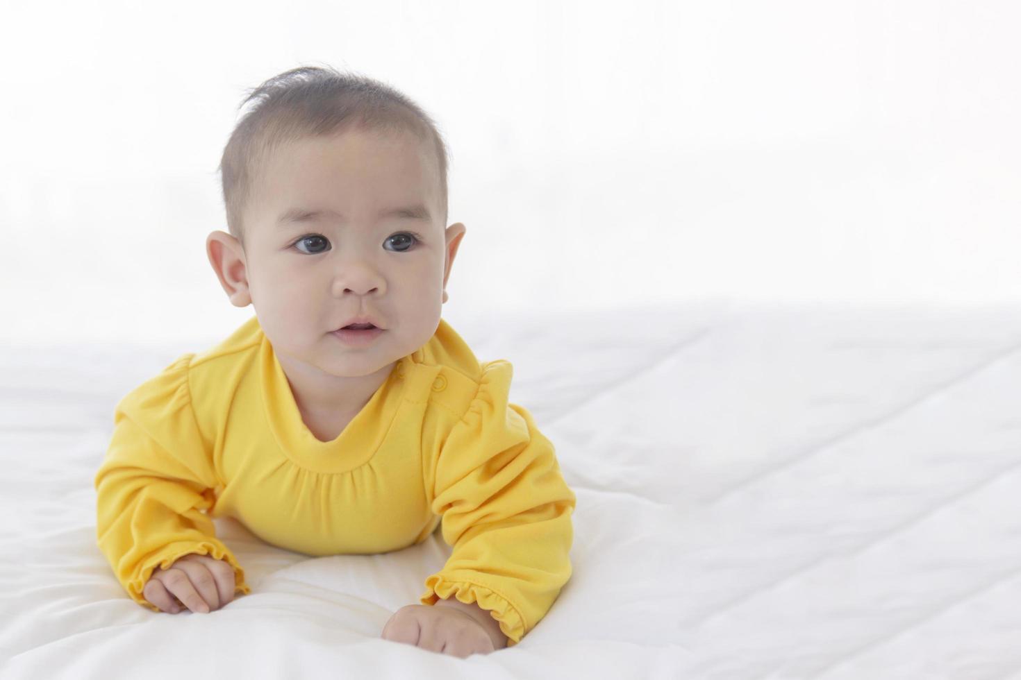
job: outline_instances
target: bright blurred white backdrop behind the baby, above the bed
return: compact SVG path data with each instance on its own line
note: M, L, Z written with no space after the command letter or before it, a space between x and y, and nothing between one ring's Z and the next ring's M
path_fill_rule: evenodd
M1019 32L1007 1L4 3L0 341L249 318L204 251L220 156L246 89L322 64L437 120L454 322L1021 303Z

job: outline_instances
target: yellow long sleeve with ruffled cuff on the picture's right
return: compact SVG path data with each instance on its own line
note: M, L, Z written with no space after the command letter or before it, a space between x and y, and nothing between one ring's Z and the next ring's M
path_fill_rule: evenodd
M426 580L423 605L451 595L489 610L521 641L571 577L576 496L553 444L521 406L508 404L512 365L482 365L479 389L434 462L432 510L453 551Z

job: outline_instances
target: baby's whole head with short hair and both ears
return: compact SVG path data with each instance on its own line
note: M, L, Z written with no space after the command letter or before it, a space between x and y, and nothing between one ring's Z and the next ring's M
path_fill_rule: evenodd
M229 233L206 239L232 304L254 307L278 354L336 376L389 370L432 337L465 225L444 229L446 151L392 88L295 68L242 102L224 149ZM368 316L371 342L333 331Z

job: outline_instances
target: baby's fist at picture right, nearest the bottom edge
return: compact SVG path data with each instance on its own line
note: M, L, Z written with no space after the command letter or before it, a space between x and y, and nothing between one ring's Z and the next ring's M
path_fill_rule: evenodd
M495 651L493 640L482 624L452 607L401 607L383 626L380 636L461 659Z

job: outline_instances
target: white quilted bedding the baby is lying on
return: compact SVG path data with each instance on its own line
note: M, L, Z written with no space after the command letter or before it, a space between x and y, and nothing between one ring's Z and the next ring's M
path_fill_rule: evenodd
M1021 678L1021 310L776 307L454 322L578 495L520 645L383 640L450 548L310 558L232 519L252 593L128 598L95 544L116 401L184 352L0 357L3 678Z

